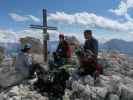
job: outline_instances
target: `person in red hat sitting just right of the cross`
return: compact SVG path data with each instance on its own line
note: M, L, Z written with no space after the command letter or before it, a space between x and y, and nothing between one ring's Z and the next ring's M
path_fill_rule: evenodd
M64 39L64 35L59 35L59 44L56 52L53 53L54 62L58 65L64 65L69 62L70 59L70 47L68 42Z

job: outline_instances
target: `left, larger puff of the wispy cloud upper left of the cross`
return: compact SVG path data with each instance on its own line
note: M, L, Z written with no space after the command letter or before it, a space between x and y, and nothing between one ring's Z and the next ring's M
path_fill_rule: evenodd
M16 14L16 13L9 13L9 16L16 22L24 22L24 21L27 21L29 20L28 17L26 16L21 16L19 14Z

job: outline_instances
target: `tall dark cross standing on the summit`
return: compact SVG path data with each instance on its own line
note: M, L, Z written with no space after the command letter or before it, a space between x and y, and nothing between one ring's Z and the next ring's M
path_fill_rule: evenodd
M43 30L43 55L44 55L44 62L47 63L48 61L48 49L47 49L48 39L46 39L47 30L57 30L57 28L47 26L47 10L46 9L43 9L43 25L30 25L30 28Z

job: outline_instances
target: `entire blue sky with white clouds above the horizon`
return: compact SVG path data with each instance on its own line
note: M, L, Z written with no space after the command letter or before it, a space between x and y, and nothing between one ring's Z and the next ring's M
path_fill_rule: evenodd
M42 9L47 9L50 39L59 33L84 41L83 32L93 31L100 42L110 39L133 41L133 0L0 0L0 42L16 42L20 37L42 39Z

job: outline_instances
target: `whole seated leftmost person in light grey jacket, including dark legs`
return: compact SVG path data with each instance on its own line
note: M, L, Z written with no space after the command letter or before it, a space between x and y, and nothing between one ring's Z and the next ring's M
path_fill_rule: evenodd
M27 43L25 44L21 52L16 57L15 70L21 76L21 80L32 78L36 68L39 68L40 65L33 61L31 55L32 45Z

